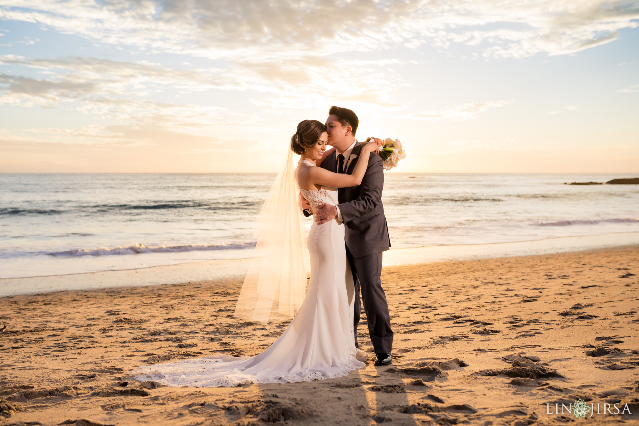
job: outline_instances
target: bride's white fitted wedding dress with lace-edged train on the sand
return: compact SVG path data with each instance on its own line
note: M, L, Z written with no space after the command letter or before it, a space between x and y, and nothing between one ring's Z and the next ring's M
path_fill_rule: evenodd
M337 205L334 188L302 190L302 194L313 209L319 204ZM205 388L332 379L364 367L355 358L355 287L346 259L344 225L335 220L313 223L307 241L311 280L304 302L286 331L266 351L250 357L215 355L150 365L130 375L167 386Z

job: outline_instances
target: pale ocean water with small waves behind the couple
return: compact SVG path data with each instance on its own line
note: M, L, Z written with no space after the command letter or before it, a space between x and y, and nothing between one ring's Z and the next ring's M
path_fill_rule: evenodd
M393 248L639 231L618 174L387 173ZM250 257L274 174L0 174L0 278ZM307 227L312 224L307 220Z

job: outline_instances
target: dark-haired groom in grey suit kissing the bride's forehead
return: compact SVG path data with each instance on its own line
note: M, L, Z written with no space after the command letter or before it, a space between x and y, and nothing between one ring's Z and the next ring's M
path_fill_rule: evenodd
M328 171L351 174L362 151L362 145L355 139L359 120L355 112L346 108L330 107L326 121L328 144L335 147L321 164ZM355 315L353 329L355 346L357 325L360 320L360 288L364 300L364 312L368 323L371 342L377 356L375 365L389 365L393 345L393 331L390 329L389 305L381 288L381 252L389 250L389 230L381 204L381 190L384 186L384 167L376 153L370 153L366 174L359 186L339 188L339 204L322 204L315 215L318 225L337 218L343 222L346 255L353 271L355 282ZM310 206L306 204L304 208ZM306 216L311 213L305 211Z

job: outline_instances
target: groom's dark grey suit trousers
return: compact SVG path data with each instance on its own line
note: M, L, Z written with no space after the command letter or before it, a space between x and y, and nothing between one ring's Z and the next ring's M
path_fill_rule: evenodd
M355 347L357 341L357 326L362 312L360 304L360 289L364 301L364 312L368 323L368 332L375 353L390 353L393 347L393 331L390 328L389 304L386 294L381 288L381 253L369 254L364 257L353 257L348 247L346 255L353 272L355 282L355 307L353 316L353 331L355 332Z

